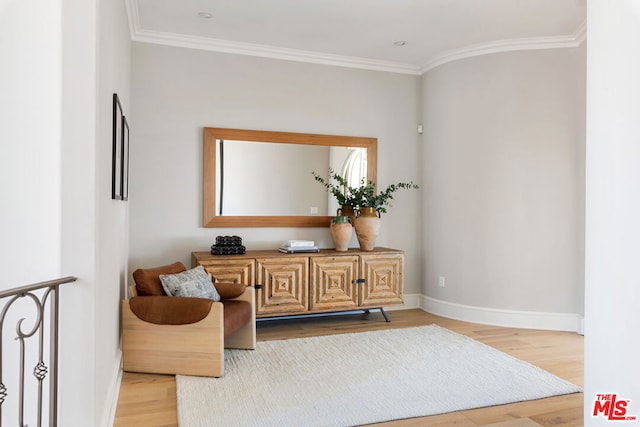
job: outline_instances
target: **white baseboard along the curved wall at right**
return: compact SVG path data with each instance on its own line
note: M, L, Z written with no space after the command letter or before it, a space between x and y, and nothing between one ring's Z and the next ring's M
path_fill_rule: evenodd
M455 304L421 295L420 308L437 316L465 322L525 329L570 331L584 334L583 316L577 313L545 313L501 310Z

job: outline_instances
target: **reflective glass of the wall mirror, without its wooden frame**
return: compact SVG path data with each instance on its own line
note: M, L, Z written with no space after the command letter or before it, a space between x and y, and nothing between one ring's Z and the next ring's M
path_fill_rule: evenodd
M335 198L311 172L326 175L331 168L357 186L367 176L366 152L361 147L217 139L217 215L335 215ZM245 165L253 166L247 171Z

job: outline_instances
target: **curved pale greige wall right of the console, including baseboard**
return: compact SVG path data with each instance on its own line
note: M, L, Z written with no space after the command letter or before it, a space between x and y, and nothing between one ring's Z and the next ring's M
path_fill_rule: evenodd
M522 326L576 330L584 45L448 63L423 76L422 96L427 308L489 323L509 318L500 310L529 313ZM559 318L527 325L536 313Z

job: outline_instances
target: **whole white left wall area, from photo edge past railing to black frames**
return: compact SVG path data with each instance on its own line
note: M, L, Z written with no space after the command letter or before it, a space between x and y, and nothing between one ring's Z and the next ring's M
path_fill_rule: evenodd
M60 291L59 425L111 424L128 255L111 93L127 105L129 45L124 1L0 6L0 289L78 277Z

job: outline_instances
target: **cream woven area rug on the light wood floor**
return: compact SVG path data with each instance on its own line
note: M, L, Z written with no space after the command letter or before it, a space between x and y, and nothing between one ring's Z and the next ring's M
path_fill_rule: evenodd
M355 426L580 392L436 325L258 342L177 376L181 427Z

